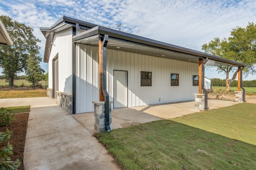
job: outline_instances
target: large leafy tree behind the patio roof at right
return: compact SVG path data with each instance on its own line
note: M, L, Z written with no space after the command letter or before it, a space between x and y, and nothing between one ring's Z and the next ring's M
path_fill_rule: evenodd
M214 38L209 43L202 45L202 50L206 53L238 61L247 64L243 70L245 76L255 74L256 68L256 25L248 23L246 28L236 27L230 32L230 37L220 39ZM206 63L207 64L207 63ZM226 91L230 84L236 79L238 68L231 66L216 66L218 73L226 74ZM230 79L230 72L234 72Z

